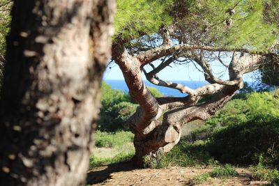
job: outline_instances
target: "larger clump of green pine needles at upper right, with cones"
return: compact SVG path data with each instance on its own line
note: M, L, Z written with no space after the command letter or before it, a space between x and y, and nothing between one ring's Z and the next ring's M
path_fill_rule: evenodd
M190 39L197 43L266 52L278 38L277 3L266 0L195 2L185 3L191 6L183 8L188 10L188 15L177 22L184 25L181 29L190 33ZM229 10L233 10L232 14Z

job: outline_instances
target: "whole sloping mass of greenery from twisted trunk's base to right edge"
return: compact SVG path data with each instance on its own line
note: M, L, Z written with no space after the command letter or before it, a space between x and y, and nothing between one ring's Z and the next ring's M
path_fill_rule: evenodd
M279 168L279 91L229 101L206 124L181 139L154 167L216 161Z

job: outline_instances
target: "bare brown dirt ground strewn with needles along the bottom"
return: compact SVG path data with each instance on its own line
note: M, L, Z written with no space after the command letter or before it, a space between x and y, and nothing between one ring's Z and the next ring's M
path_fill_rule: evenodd
M120 163L97 167L89 171L87 185L194 185L193 178L209 172L208 168L169 167L165 169L135 169L133 164ZM209 178L200 185L267 185L268 182L252 180L247 168L238 168L239 176Z

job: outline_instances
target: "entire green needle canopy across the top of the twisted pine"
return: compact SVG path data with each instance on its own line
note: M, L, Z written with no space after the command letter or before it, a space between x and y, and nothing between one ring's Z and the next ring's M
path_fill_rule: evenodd
M117 0L114 38L152 40L174 24L183 43L267 52L279 34L278 6L273 0Z

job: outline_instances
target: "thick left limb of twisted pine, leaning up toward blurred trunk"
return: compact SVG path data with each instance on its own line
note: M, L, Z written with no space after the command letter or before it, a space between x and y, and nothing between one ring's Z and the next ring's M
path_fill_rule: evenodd
M131 97L140 104L140 109L130 118L132 130L137 137L144 137L144 128L160 115L160 107L142 80L140 62L126 52L122 45L112 46L112 58L121 68Z

